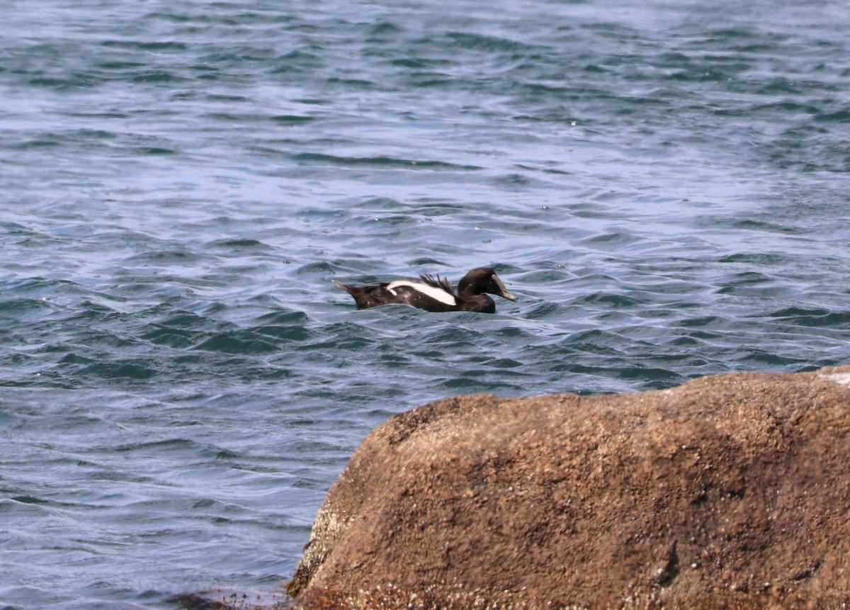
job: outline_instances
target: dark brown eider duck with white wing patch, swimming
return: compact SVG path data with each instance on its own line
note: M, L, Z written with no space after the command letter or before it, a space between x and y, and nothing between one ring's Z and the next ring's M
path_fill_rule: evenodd
M463 276L457 284L457 293L449 280L439 275L422 274L419 280L396 280L381 284L350 286L333 280L333 283L348 291L358 309L379 307L390 303L401 303L411 307L433 312L474 311L496 313L496 303L485 295L516 301L510 291L501 283L496 272L489 267L479 267Z

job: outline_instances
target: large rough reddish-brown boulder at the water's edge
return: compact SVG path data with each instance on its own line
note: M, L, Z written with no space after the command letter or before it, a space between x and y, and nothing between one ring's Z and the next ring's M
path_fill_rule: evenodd
M354 453L289 590L311 609L844 607L848 385L850 366L425 404Z

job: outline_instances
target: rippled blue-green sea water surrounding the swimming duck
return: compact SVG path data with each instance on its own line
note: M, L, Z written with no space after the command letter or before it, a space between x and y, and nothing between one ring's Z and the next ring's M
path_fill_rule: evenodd
M0 607L263 603L455 394L850 363L840 0L15 1ZM331 279L492 265L498 313Z

